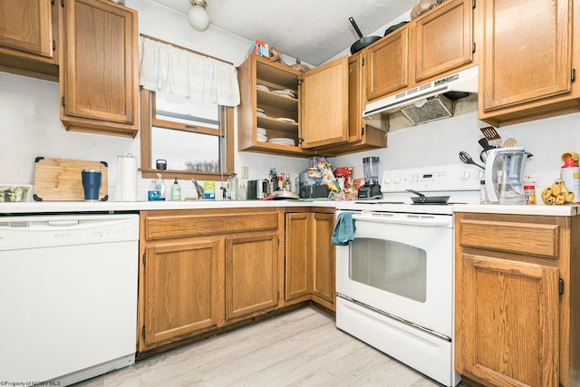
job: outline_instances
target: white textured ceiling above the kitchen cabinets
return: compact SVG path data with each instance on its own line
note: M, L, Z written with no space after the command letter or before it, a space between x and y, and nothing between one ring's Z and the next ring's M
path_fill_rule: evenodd
M189 0L150 0L187 15ZM418 0L207 0L209 23L319 65L410 11ZM378 34L378 33L377 33ZM380 33L382 36L384 31Z

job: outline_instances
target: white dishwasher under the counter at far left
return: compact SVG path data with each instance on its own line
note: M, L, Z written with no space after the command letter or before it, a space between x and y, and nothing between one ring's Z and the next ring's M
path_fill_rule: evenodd
M0 217L0 381L135 363L138 272L139 215Z

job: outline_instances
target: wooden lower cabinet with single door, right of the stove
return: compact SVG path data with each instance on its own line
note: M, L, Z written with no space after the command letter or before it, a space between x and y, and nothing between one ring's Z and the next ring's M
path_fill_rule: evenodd
M580 385L579 230L580 217L456 214L455 367L466 384Z

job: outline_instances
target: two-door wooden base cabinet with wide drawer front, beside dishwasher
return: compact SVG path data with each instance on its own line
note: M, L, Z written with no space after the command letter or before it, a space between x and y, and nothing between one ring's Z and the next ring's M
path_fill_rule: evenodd
M142 211L139 352L275 310L277 208Z

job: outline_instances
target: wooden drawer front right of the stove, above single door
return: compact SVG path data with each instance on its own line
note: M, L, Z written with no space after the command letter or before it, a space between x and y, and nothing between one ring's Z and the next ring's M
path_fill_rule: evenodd
M459 245L531 256L558 256L557 225L461 219Z

